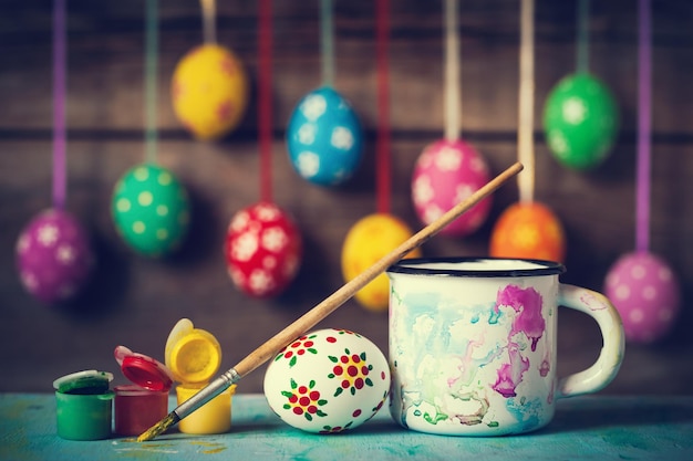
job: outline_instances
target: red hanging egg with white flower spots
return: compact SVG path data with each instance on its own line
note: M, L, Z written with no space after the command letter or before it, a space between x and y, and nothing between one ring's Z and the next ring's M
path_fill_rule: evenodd
M276 205L261 201L231 218L224 251L234 284L250 296L270 297L293 281L302 242L291 218Z

